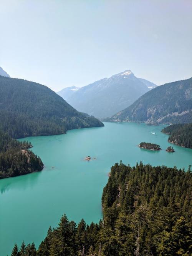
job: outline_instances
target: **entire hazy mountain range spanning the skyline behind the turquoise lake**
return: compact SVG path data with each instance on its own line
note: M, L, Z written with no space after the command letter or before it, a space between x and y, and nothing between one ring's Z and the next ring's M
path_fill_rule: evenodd
M126 70L81 88L64 88L58 94L67 103L46 86L10 78L2 68L0 74L0 128L12 131L13 138L103 125L89 115L104 121L192 122L192 78L156 86Z

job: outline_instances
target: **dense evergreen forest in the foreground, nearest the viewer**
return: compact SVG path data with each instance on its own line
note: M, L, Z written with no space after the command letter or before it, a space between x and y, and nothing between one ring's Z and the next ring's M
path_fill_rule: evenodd
M37 251L23 243L12 255L190 256L191 185L190 168L116 163L103 190L102 221L76 226L64 214Z

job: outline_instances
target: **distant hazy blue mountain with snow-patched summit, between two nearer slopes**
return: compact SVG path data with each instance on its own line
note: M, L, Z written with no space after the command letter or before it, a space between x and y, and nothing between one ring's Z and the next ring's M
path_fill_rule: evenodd
M147 80L145 80L147 81ZM149 81L148 81L149 82ZM149 82L151 85L151 82ZM78 111L98 118L111 116L131 105L141 95L150 90L146 82L134 76L131 70L103 78L81 88L64 89L58 93ZM72 91L71 91L72 90ZM70 93L71 95L68 96Z

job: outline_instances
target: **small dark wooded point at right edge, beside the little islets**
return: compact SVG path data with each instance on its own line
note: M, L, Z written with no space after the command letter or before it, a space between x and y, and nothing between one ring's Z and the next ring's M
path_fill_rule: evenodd
M192 123L169 125L162 132L170 135L169 142L185 148L192 148Z

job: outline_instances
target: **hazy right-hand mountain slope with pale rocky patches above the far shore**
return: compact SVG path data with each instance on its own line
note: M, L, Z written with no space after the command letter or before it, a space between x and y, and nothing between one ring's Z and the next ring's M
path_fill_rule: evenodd
M107 120L192 123L192 78L157 86Z

